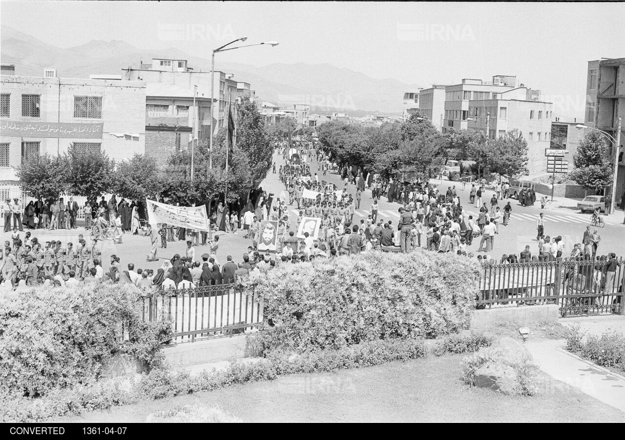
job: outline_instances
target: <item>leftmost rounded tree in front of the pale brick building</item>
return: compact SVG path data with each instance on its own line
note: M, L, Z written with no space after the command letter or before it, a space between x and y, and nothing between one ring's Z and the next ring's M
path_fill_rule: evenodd
M31 197L57 199L68 191L66 156L37 156L16 168L17 178Z

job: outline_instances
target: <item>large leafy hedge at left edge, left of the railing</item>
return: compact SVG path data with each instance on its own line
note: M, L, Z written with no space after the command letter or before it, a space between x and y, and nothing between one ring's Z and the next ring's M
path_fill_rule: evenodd
M88 384L101 376L111 357L121 353L136 357L147 369L157 366L163 356L161 342L171 337L171 326L141 320L139 292L134 286L103 284L3 294L2 392L37 397Z

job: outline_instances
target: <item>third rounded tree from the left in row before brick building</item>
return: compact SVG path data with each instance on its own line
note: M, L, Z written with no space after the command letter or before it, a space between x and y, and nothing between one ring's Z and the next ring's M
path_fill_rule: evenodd
M115 170L115 192L126 199L154 197L159 189L159 172L156 159L144 154L118 164Z

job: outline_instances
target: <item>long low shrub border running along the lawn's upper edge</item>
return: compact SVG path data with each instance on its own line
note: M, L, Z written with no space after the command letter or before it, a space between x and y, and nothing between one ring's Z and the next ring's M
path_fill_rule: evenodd
M437 343L432 352L436 356L441 356L445 352L475 351L488 344L489 339L477 334L452 335ZM196 375L191 375L187 371L172 372L154 368L143 376L143 380L134 384L132 392L121 389L118 381L109 380L81 384L72 389L56 389L36 399L0 396L2 401L0 420L44 421L55 416L108 409L144 398L163 399L180 394L213 391L232 384L269 381L283 374L375 366L384 362L417 359L426 354L427 349L423 341L409 339L363 342L338 350L306 352L299 355L276 350L259 362L231 362L224 371L202 371Z

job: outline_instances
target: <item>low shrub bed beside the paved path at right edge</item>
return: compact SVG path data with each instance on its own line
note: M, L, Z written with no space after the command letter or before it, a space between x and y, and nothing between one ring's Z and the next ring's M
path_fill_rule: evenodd
M566 338L566 349L599 366L625 372L625 334L620 332L607 331L601 337L589 335L584 342L584 332L574 326Z

